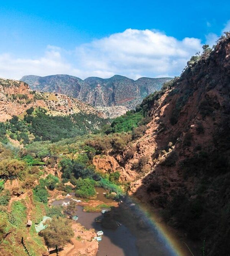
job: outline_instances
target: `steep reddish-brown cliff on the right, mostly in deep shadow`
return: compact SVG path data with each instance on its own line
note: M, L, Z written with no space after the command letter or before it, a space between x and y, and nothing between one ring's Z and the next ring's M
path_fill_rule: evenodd
M142 105L152 117L147 131L116 156L123 177L133 180L129 193L198 244L205 241L205 255L228 255L230 38Z

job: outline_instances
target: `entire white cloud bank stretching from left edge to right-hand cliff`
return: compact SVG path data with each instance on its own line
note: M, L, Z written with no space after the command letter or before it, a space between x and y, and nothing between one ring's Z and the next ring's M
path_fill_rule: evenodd
M137 79L141 76L179 75L187 60L202 48L200 39L174 37L156 30L126 29L109 37L82 44L72 52L48 46L38 59L0 55L0 77L20 79L23 75L70 74Z

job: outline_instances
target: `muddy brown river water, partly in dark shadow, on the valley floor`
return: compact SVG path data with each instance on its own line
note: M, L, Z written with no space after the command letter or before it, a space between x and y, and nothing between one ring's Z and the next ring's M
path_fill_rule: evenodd
M102 188L97 188L97 199L105 203L113 202L107 199L103 194L106 192ZM54 201L53 205L60 205L62 202L68 202L70 199ZM111 209L109 214L100 212L84 212L81 206L77 206L76 215L79 216L78 222L85 228L94 228L95 231L102 230L104 235L99 242L97 256L175 256L176 254L168 248L168 245L162 241L159 234L148 223L145 217L135 209L130 207L130 201L125 200L119 207ZM95 218L104 218L106 223L115 223L119 221L121 226L115 229L105 228L102 223L95 222ZM104 223L103 222L103 223Z

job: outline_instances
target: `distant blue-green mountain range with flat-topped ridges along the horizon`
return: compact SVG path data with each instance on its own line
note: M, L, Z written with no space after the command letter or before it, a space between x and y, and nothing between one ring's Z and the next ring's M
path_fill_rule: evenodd
M32 90L66 94L95 107L119 105L128 110L135 109L143 98L161 89L171 78L141 77L133 80L114 75L108 79L88 77L82 80L71 75L25 75L20 80L30 85Z

